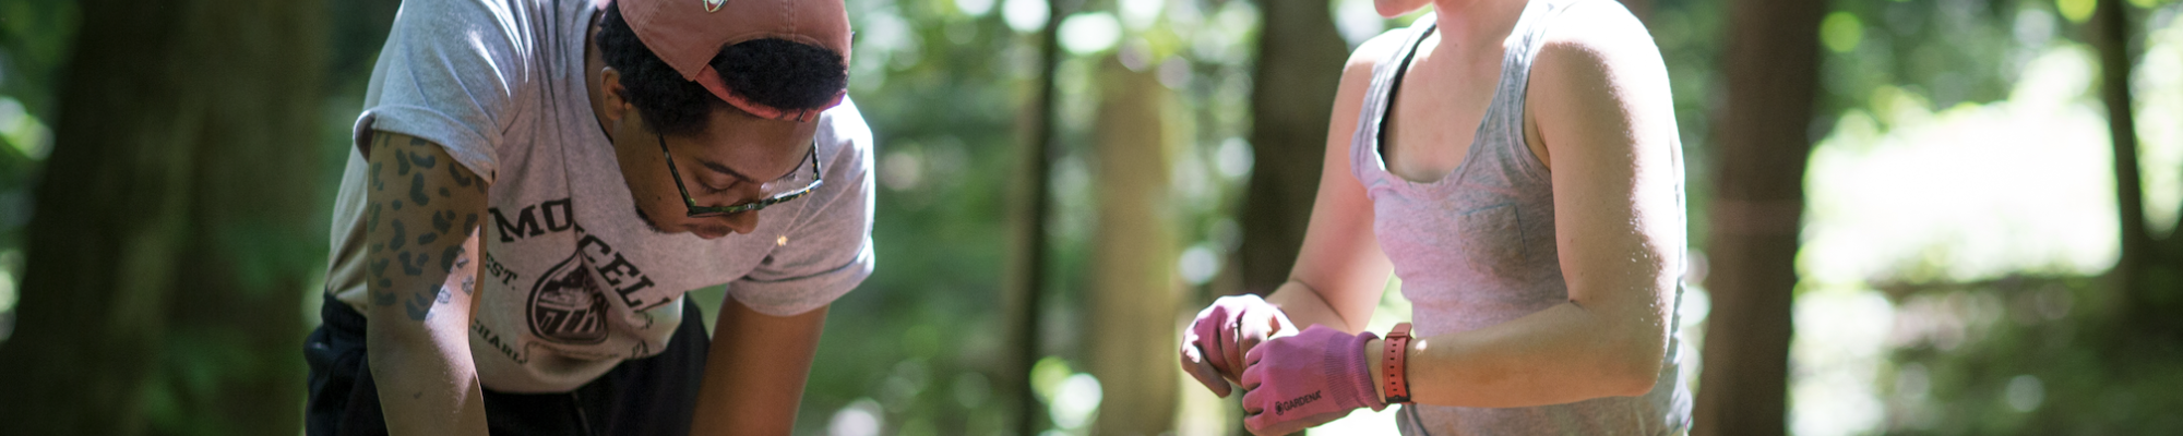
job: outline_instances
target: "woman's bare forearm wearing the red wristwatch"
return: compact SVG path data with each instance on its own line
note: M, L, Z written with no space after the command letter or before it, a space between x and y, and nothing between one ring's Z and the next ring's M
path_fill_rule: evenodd
M1410 340L1410 399L1432 405L1530 408L1598 397L1635 397L1653 388L1666 325L1615 323L1576 303L1561 303L1502 325ZM1382 342L1373 379L1386 390ZM1386 392L1380 392L1382 397Z

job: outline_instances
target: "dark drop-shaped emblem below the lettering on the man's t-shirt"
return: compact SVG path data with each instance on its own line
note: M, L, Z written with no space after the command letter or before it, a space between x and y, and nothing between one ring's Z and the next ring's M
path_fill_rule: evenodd
M607 340L607 294L592 281L592 268L581 253L552 266L530 288L530 334L563 344L598 344Z

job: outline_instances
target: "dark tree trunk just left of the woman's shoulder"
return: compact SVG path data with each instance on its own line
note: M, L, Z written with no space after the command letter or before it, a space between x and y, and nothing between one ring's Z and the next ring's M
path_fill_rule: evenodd
M1349 46L1327 0L1262 0L1257 72L1251 83L1251 185L1242 205L1238 264L1246 292L1288 281L1319 196L1327 118Z

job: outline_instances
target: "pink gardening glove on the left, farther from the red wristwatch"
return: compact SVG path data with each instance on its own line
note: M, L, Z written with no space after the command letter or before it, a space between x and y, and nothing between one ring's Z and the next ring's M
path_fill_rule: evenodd
M1255 294L1220 296L1183 329L1183 373L1227 397L1242 379L1242 355L1279 331L1297 331L1281 307Z

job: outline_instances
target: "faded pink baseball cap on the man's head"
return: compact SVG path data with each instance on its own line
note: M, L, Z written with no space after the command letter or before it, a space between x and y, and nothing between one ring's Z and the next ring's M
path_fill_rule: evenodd
M779 109L742 98L712 59L720 48L751 39L788 39L819 46L849 63L849 13L840 0L596 0L600 9L620 7L622 20L637 33L659 61L707 92L768 120L810 122L812 116L840 105L849 89L812 109Z

